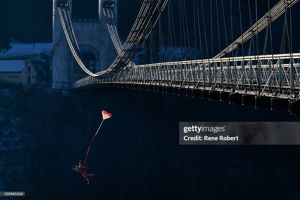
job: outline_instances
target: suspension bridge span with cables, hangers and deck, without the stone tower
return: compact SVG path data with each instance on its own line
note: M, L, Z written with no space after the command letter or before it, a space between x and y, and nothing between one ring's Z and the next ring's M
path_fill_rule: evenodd
M247 6L241 6L240 0L189 1L192 5L184 0L144 0L123 42L116 1L103 1L99 15L105 18L107 40L116 53L106 70L98 73L82 56L70 2L55 0L53 7L63 30L60 37L66 39L64 48L70 52L66 55L73 59L67 70L69 89L133 88L299 114L300 51L293 52L299 46L293 47L292 39L292 8L297 2L280 0L271 5L268 1L259 8L265 10L259 16L256 0L249 0ZM187 10L188 6L193 9ZM245 18L248 29L243 27ZM59 73L56 76L59 79Z

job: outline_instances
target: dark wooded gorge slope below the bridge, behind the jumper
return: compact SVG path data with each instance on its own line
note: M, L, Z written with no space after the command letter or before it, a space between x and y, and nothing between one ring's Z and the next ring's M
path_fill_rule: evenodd
M300 198L299 145L179 145L179 121L295 121L286 111L128 89L1 90L0 99L0 190L26 199ZM71 166L102 110L113 116L89 151L87 185Z

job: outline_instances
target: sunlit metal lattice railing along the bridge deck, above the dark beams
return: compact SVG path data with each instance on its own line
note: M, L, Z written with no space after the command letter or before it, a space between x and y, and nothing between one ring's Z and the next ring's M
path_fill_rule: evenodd
M292 56L292 59L291 59ZM300 90L299 53L164 62L124 67L118 74L88 76L73 88L104 82L168 85L216 90L290 92ZM291 62L292 61L292 62ZM99 72L101 74L103 72Z

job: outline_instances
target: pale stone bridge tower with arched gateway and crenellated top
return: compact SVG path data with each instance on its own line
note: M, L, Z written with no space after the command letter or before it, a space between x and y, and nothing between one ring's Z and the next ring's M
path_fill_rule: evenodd
M58 3L64 3L72 12L72 0L53 0L53 38L50 52L50 71L52 70L52 88L70 89L77 77L85 74L74 74L70 69L76 64L70 51L58 13ZM99 0L98 19L72 19L74 34L88 69L93 72L106 70L113 63L117 52L111 40L103 7L113 4L116 20L118 0Z

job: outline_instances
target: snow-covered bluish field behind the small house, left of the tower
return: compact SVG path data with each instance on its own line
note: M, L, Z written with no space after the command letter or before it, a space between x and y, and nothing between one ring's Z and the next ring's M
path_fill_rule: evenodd
M33 43L22 43L13 40L10 43L13 48L9 49L6 53L0 53L0 60L8 60L10 58L33 58L38 56L40 53L45 53L49 55L52 43L35 43L35 48L33 49Z

